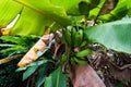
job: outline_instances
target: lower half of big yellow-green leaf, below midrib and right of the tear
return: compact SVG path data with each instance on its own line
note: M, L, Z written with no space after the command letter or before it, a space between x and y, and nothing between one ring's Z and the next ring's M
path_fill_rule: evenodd
M45 28L50 26L52 23L53 22L33 10L24 8L20 18L11 28L10 35L44 35ZM53 30L58 27L60 26L55 25Z

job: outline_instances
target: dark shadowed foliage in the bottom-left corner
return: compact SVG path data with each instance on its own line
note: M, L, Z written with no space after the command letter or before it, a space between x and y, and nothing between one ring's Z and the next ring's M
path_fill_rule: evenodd
M0 87L25 87L26 82L22 82L23 72L15 72L19 61L20 58L0 65Z

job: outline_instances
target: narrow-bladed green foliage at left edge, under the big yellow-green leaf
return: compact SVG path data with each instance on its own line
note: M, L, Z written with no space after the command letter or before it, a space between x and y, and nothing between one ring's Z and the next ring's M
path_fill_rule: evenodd
M38 39L36 36L1 36L0 53L4 57L10 54L26 53L27 50L34 45L34 41ZM12 52L13 51L13 52Z

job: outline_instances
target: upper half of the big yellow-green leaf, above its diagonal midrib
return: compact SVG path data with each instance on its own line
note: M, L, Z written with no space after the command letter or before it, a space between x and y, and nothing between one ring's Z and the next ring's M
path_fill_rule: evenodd
M51 21L57 22L62 26L68 26L71 21L68 17L63 8L59 5L53 5L49 0L15 0L32 10L38 12L39 14L48 17Z

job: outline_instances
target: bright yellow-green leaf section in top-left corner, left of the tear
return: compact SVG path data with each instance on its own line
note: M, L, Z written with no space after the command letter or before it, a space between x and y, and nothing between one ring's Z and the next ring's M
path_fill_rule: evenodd
M0 0L0 28L12 22L21 10L22 5L12 0Z

